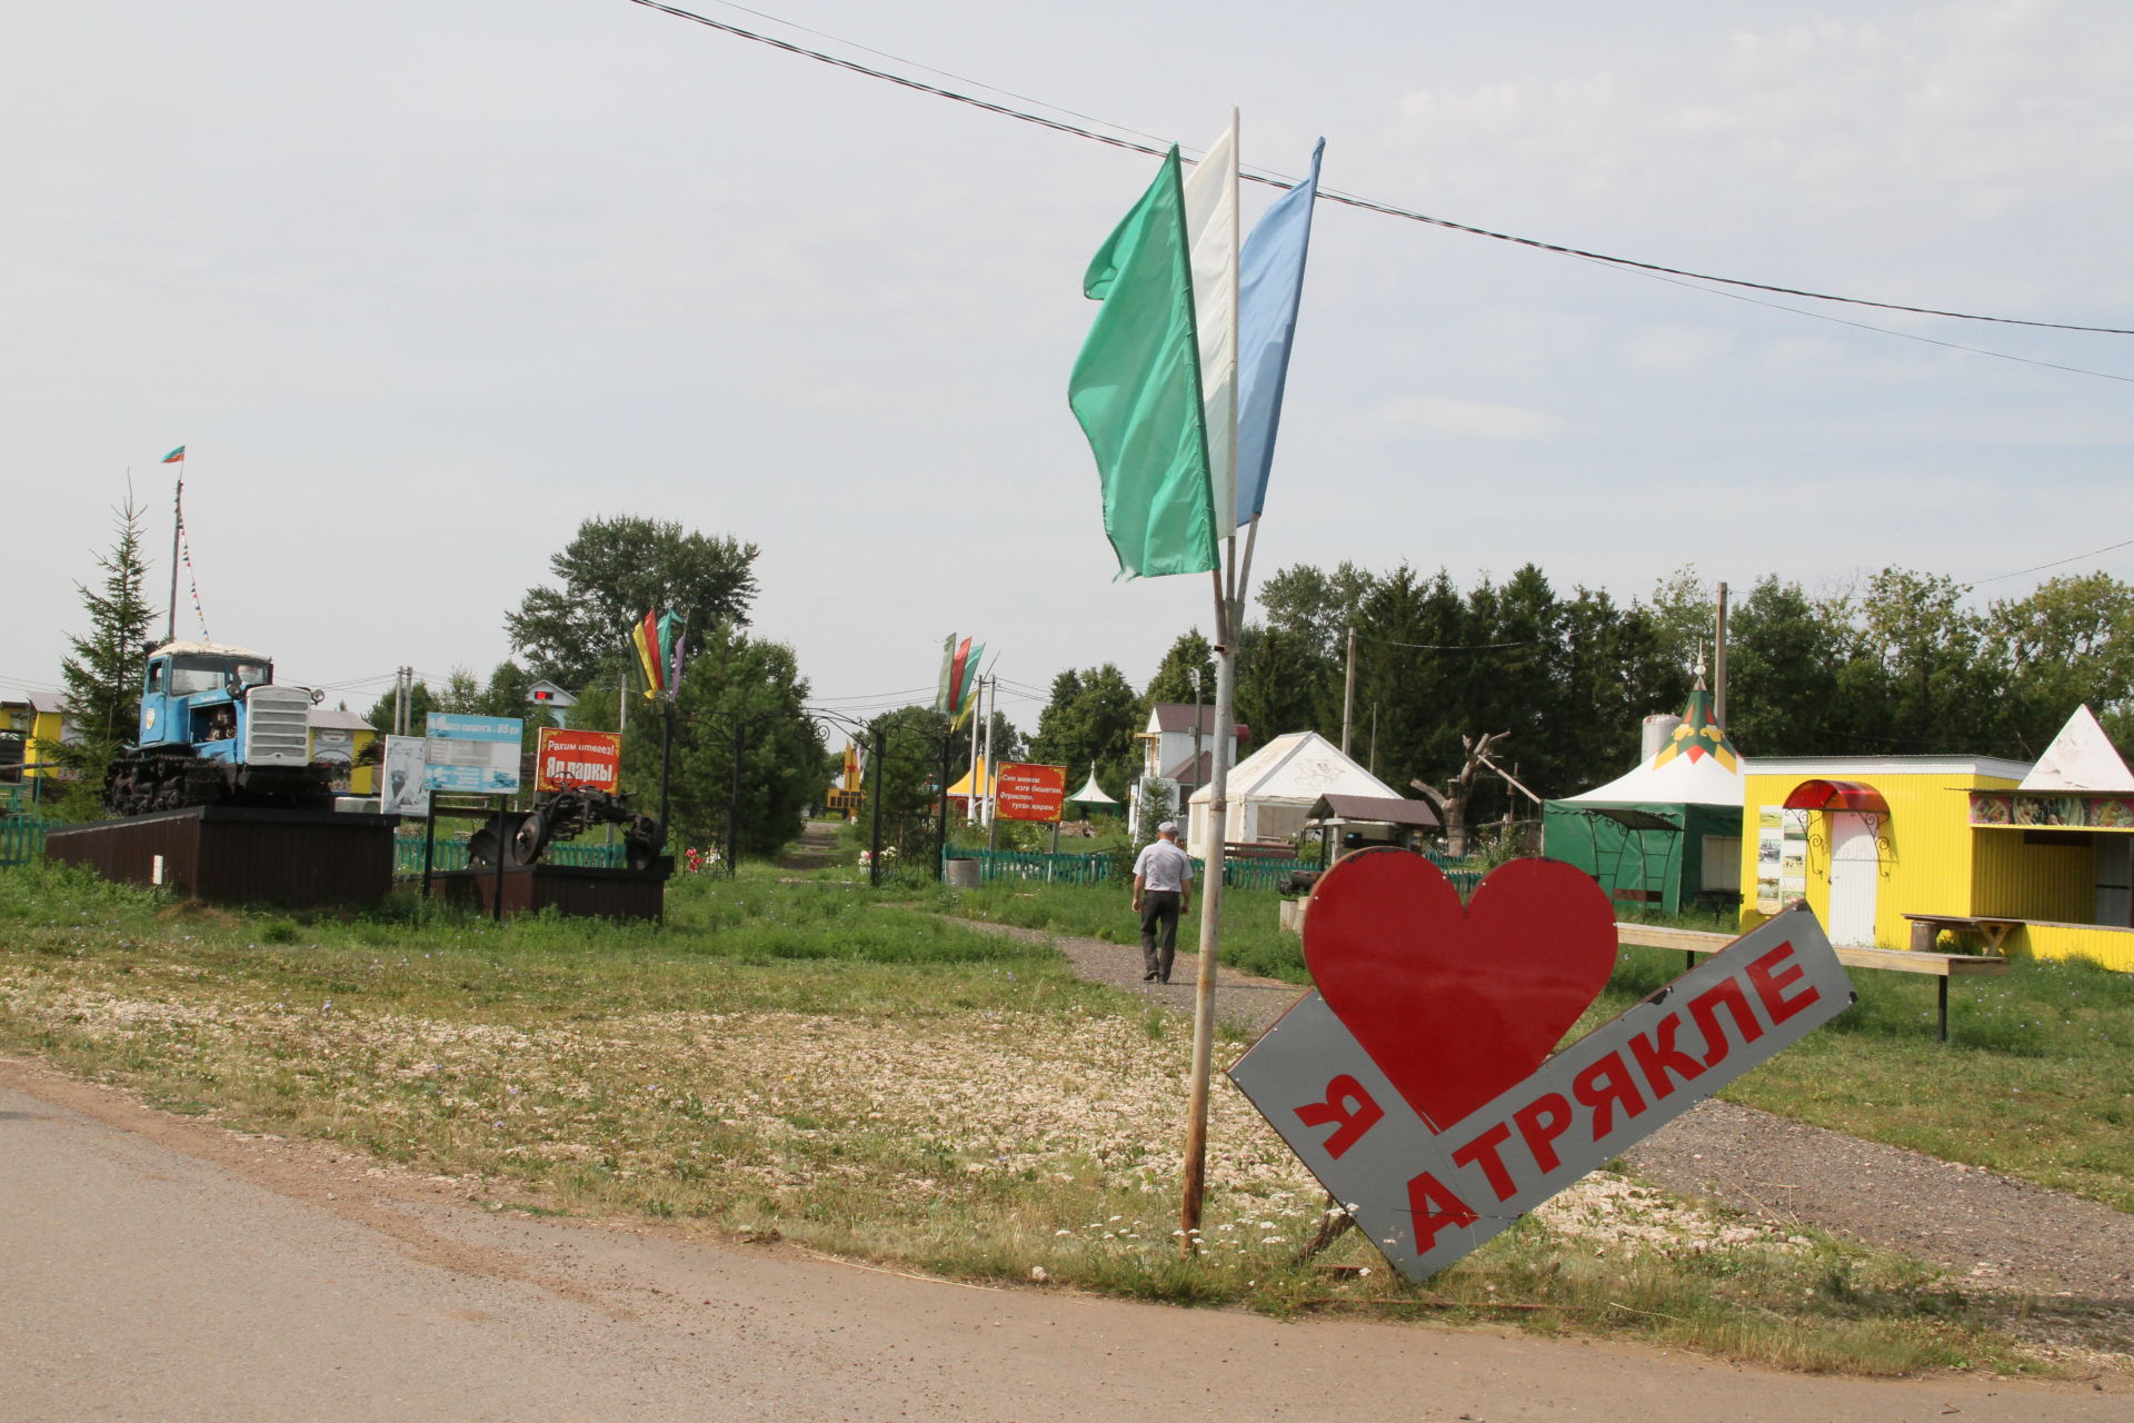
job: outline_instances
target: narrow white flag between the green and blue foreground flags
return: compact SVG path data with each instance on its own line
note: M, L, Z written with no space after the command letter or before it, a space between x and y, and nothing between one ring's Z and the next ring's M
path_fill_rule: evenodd
M1214 531L1238 527L1238 111L1184 179Z

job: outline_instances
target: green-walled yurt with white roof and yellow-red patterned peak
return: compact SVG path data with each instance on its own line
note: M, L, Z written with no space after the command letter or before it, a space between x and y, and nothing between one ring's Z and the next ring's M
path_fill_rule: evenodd
M1682 725L1652 760L1543 804L1541 853L1579 866L1626 905L1669 913L1739 905L1746 785L1699 678Z

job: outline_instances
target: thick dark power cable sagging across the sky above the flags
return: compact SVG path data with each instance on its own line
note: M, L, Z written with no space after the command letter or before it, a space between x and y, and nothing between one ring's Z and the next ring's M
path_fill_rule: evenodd
M901 85L905 90L915 90L920 94L933 94L935 98L945 98L945 100L952 100L952 102L958 102L958 105L969 105L973 109L984 109L986 113L997 113L997 115L1001 115L1005 119L1018 119L1022 124L1035 124L1039 128L1050 128L1052 132L1069 134L1069 137L1076 137L1076 139L1088 139L1090 143L1103 143L1103 145L1129 149L1129 151L1135 151L1135 154L1148 154L1152 158L1163 158L1163 154L1167 149L1167 145L1159 147L1161 141L1157 141L1157 143L1140 143L1135 139L1116 139L1112 134L1101 134L1101 132L1095 132L1093 128L1084 128L1080 124L1067 124L1063 119L1052 119L1052 117L1046 117L1041 113L1031 113L1026 109L1012 109L1007 105L997 105L992 100L977 98L975 94L962 94L958 90L947 90L947 87L941 87L937 83L926 83L922 79L909 79L905 75L894 75L890 70L873 68L873 66L860 64L856 60L845 60L845 58L839 58L839 55L832 55L832 53L824 53L819 49L809 49L807 45L796 45L792 41L781 41L777 36L762 34L758 30L743 30L740 26L732 26L732 23L726 23L721 19L711 19L708 15L698 15L696 11L685 11L685 9L676 6L676 4L662 4L662 0L630 0L630 4L638 4L638 6L647 9L647 11L659 11L662 15L672 15L674 19L687 19L689 23L704 26L706 30L719 30L721 34L732 34L734 38L745 38L745 41L753 41L758 45L768 45L773 49L781 49L785 53L800 55L805 60L815 60L819 64L830 64L832 68L843 68L843 70L849 70L854 75L864 75L866 79L879 79L883 83L894 83L894 85ZM734 9L745 9L745 6L734 6ZM764 19L773 19L775 23L781 23L781 26L790 23L790 21L777 19L775 15L766 15L764 11L747 11L747 13L749 15L762 15ZM802 26L790 26L790 28L802 30ZM807 30L807 34L819 34L819 36L832 38L832 41L837 41L841 45L851 45L854 49L866 49L864 45L854 45L851 41L847 41L843 36L837 36L837 34L826 34L824 30ZM883 51L871 49L869 53L881 55ZM883 58L896 60L896 55L883 55ZM911 64L911 60L896 60L896 62L898 64ZM928 66L922 66L922 68L928 68ZM945 75L945 70L933 70L933 73L958 79L954 75ZM975 79L958 79L958 83L973 83L977 87L992 90L994 94L1009 94L1009 90L999 90L999 87L994 87L990 83L980 83ZM1016 98L1022 98L1022 96L1016 96ZM1037 105L1041 100L1022 98L1022 102ZM1056 109L1058 113L1073 113L1071 109L1058 109L1056 105L1041 105L1041 107ZM1103 124L1105 128L1116 128L1116 130L1129 132L1129 134L1131 132L1140 132L1140 130L1127 128L1125 124L1112 124L1110 119L1088 119L1088 115L1076 115L1076 117L1084 117L1086 122ZM1148 137L1148 134L1142 134L1142 137ZM1248 183L1261 183L1265 188L1278 188L1278 190L1289 190L1289 188L1297 186L1297 179L1274 175L1274 173L1242 173L1240 171L1238 177L1242 181L1248 181ZM2089 333L2096 333L2096 335L2134 335L2134 329L2130 329L2130 326L2089 326L2089 324L2081 324L2081 322L2044 322L2044 320L2029 320L2029 318L2021 318L2021 316L1980 316L1976 311L1950 311L1950 309L1944 309L1944 307L1914 307L1914 305L1906 305L1901 301L1872 301L1867 297L1837 297L1833 292L1814 292L1814 290L1799 288L1799 286L1780 286L1780 284L1773 284L1773 282L1750 282L1748 277L1722 277L1722 275L1716 275L1716 273L1688 271L1684 267L1667 267L1662 262L1643 262L1639 258L1609 256L1607 252L1590 252L1586 247L1571 247L1571 245L1564 245L1564 243L1541 241L1539 237L1519 237L1515 233L1498 233L1494 228L1475 226L1470 222L1455 222L1451 218L1434 218L1430 213L1415 211L1413 207L1400 207L1396 203L1379 203L1376 198L1366 198L1366 196L1359 196L1359 194L1353 194L1353 192L1342 192L1338 188L1319 188L1319 196L1323 201L1327 201L1327 203L1342 203L1347 207L1359 207L1364 211L1381 213L1385 218L1402 218L1406 222L1423 222L1423 224L1430 224L1430 226L1436 226L1436 228L1445 228L1449 233L1466 233L1468 237L1487 237L1492 241L1504 241L1504 243L1513 243L1513 245L1519 245L1519 247L1532 247L1536 252L1556 252L1558 256L1577 256L1577 258L1586 258L1590 262L1603 262L1603 265L1609 265L1609 267L1624 267L1624 269L1656 273L1656 275L1665 275L1665 277L1690 277L1694 282L1718 282L1722 286L1741 286L1741 288L1748 288L1748 290L1773 292L1773 294L1780 294L1780 297L1805 297L1810 301L1835 301L1835 303L1854 305L1854 307L1876 307L1880 311L1908 311L1912 316L1946 316L1950 320L1993 322L1993 324L2000 324L2000 326L2036 326L2036 329L2044 329L2044 331L2089 331ZM1869 331L1874 331L1874 326L1869 326ZM1899 333L1891 333L1891 335L1899 335ZM1995 354L1995 352L1985 352L1985 354ZM2019 358L2019 356L2010 356L2010 358ZM2038 363L2038 365L2047 365L2047 363ZM2083 373L2085 375L2093 375L2096 371L2083 371ZM2115 380L2125 380L2125 378L2115 378Z

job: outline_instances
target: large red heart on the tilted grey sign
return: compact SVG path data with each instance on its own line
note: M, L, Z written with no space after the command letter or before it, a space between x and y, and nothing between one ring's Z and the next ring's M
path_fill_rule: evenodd
M1430 860L1334 864L1304 915L1319 994L1408 1105L1445 1131L1528 1077L1615 966L1615 911L1562 860L1500 864L1460 905Z

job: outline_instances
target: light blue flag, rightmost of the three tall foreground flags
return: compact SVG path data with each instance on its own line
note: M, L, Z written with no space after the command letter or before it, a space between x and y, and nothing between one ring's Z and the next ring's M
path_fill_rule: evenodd
M1268 501L1325 147L1321 139L1312 149L1310 177L1261 213L1238 260L1238 527L1253 523Z

